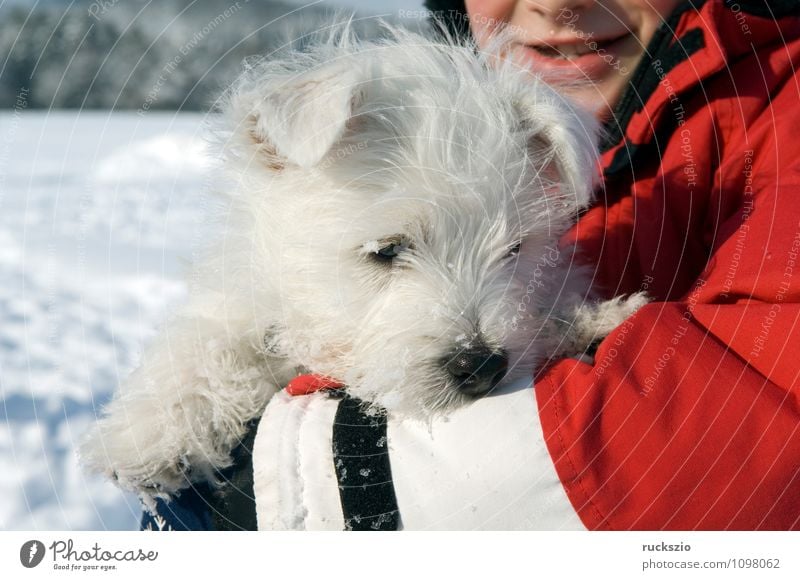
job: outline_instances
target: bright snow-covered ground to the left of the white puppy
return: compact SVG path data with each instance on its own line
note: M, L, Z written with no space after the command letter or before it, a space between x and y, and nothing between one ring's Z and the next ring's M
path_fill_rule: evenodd
M195 114L0 113L0 530L134 529L76 442L210 228Z

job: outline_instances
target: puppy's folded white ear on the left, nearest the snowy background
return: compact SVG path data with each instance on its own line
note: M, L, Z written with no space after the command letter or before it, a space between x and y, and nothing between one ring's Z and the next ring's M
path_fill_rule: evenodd
M247 99L245 129L274 168L313 167L341 139L366 80L366 67L351 59L274 79Z

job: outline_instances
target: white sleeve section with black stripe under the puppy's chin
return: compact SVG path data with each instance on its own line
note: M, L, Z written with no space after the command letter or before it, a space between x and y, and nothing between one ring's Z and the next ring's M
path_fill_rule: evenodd
M352 414L351 399L325 391L273 397L253 451L259 529L585 529L530 379L426 423L361 413L372 425L354 427L345 401ZM380 508L392 501L399 517Z

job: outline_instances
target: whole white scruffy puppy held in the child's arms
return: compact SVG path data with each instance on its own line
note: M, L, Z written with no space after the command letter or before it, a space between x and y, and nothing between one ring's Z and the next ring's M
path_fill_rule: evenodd
M591 201L593 116L498 51L387 30L228 90L225 235L82 447L91 470L151 502L213 481L299 373L425 420L646 302L597 301L559 246Z

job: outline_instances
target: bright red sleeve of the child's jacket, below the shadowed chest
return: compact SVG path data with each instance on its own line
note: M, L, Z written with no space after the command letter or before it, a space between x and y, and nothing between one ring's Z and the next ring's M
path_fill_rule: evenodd
M590 529L800 528L792 90L726 145L751 166L743 191L718 192L736 201L691 291L642 308L593 365L562 360L537 378L548 449Z

